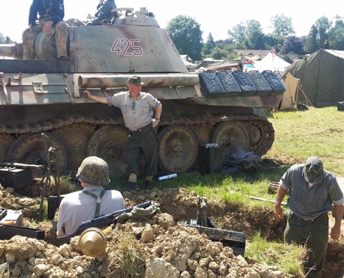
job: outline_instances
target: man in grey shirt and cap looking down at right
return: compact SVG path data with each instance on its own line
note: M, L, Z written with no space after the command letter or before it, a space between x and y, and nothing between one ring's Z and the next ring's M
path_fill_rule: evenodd
M344 197L336 177L324 169L316 156L306 164L291 166L279 181L275 202L275 218L283 217L281 202L289 190L290 208L284 238L287 243L305 245L309 258L304 263L307 277L321 277L329 235L338 240L341 234ZM335 224L329 234L329 211L334 212Z

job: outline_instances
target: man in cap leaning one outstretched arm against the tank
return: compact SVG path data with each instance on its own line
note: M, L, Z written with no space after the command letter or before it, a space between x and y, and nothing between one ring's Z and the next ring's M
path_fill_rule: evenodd
M139 190L137 179L141 157L145 158L145 189L152 189L152 180L157 172L158 135L156 126L160 121L163 106L161 102L147 92L141 92L143 83L140 76L131 76L127 86L129 91L118 92L112 97L97 97L85 90L85 95L94 101L120 108L124 124L129 129L127 145L127 190ZM153 116L155 111L155 117Z

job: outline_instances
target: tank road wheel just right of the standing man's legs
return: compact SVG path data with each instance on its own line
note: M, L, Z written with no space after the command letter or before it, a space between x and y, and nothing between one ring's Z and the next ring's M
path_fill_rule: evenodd
M181 173L193 167L199 139L193 129L182 124L167 126L158 134L158 166L164 170Z

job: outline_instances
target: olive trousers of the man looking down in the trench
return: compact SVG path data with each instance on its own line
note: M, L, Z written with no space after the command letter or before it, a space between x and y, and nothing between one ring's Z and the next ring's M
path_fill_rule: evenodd
M329 215L323 213L315 220L303 220L291 212L284 238L287 243L304 245L309 250L309 259L304 263L307 277L321 277L329 241Z

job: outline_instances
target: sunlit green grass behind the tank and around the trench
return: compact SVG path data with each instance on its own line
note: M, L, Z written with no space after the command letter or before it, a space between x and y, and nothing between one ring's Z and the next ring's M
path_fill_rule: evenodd
M275 142L272 148L263 156L264 167L256 172L239 172L231 175L199 174L188 172L178 174L176 178L164 181L154 180L154 186L159 188L179 188L194 190L197 195L211 199L222 199L224 202L245 204L252 209L268 206L273 209L272 202L262 202L247 197L255 196L273 201L275 195L268 193L268 185L279 181L288 167L295 163L304 163L309 156L319 156L327 170L344 177L344 112L336 107L310 108L308 111L279 111L268 115L275 129ZM106 189L122 191L127 183L124 177L113 177ZM143 184L142 179L140 183ZM286 197L287 198L287 197ZM285 202L286 202L285 198ZM304 250L296 245L268 242L258 233L249 238L247 256L261 263L278 265L295 277L302 277L302 254ZM139 259L129 242L121 243L129 257L126 265L135 265ZM122 270L117 269L121 272ZM122 273L124 276L127 273Z

